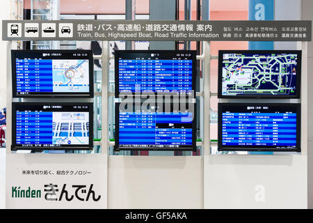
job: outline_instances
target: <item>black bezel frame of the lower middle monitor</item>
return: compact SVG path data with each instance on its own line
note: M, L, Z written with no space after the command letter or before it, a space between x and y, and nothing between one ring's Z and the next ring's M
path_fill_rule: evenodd
M119 107L120 107L121 102L115 102L115 145L114 145L114 151L197 151L197 122L196 122L196 106L195 103L192 103L193 105L193 123L192 123L192 145L191 147L188 148L172 148L172 147L163 147L163 148L158 148L158 147L149 147L149 148L141 148L141 147L120 147L119 143L119 129L120 129L120 117L119 117ZM134 102L135 104L135 102ZM163 102L163 107L164 107L164 102ZM170 103L168 103L170 104ZM190 105L190 104L189 104Z

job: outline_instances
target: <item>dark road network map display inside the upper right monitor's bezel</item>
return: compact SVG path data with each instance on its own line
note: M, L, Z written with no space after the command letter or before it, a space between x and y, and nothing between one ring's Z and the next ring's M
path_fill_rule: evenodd
M297 54L223 54L222 95L296 95Z

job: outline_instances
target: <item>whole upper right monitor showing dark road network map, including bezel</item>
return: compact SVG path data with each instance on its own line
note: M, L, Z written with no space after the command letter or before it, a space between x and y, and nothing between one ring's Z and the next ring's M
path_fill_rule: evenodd
M300 50L220 50L218 98L300 98Z

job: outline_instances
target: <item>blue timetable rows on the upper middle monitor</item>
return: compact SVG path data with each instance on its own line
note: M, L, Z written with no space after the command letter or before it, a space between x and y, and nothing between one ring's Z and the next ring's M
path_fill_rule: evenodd
M118 61L119 91L191 91L192 60Z

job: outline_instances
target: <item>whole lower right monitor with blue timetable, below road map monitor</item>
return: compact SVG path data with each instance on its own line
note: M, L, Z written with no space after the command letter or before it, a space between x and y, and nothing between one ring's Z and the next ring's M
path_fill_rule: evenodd
M300 104L219 103L219 151L300 151Z

